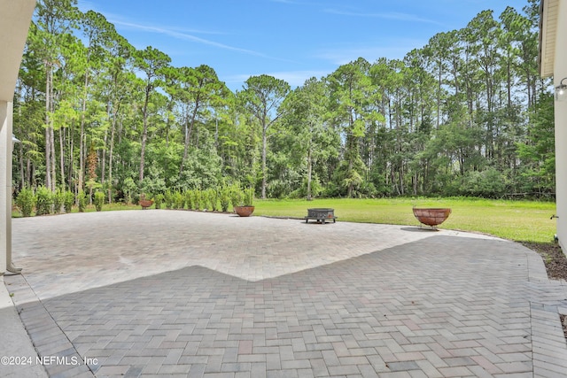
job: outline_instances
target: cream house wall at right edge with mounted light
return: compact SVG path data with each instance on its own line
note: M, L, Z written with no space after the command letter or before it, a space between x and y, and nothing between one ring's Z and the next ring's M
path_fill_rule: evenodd
M555 40L554 84L567 77L567 4L559 2ZM555 196L557 237L567 254L567 101L555 101Z

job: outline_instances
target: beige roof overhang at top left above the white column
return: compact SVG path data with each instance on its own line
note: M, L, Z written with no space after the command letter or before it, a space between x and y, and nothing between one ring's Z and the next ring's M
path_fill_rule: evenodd
M12 102L35 0L0 0L0 101Z

